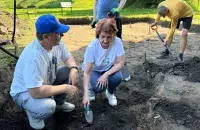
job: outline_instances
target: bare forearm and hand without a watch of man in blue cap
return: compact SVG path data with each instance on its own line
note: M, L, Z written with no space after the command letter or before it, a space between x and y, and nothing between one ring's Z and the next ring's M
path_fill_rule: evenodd
M37 88L30 88L28 92L33 98L46 98L61 93L67 93L73 96L77 89L75 86L63 84L63 85L42 85Z

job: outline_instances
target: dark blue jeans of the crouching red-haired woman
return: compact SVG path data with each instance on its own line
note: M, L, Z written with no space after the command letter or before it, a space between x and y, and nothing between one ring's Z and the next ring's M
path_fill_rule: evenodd
M105 72L97 72L92 71L90 75L90 87L89 89L92 90L94 93L101 93L103 92L106 87L104 86L103 89L100 89L97 85L97 80L104 74ZM116 90L116 87L120 85L122 81L122 74L120 71L115 72L114 74L108 77L108 92L113 94Z

